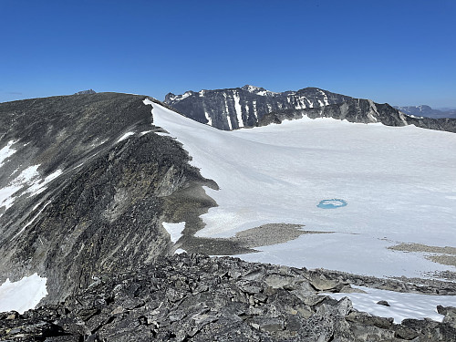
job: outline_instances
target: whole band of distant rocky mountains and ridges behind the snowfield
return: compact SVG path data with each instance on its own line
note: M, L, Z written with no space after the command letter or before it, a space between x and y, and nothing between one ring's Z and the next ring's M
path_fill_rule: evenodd
M264 126L283 119L330 117L350 122L382 123L387 126L415 125L430 130L456 132L456 119L436 119L439 110L428 106L393 108L370 99L351 98L320 88L275 93L246 85L243 88L169 93L164 102L187 118L219 130ZM409 109L409 110L405 110ZM428 110L430 109L430 110ZM417 111L420 115L417 115ZM423 113L434 113L434 118Z

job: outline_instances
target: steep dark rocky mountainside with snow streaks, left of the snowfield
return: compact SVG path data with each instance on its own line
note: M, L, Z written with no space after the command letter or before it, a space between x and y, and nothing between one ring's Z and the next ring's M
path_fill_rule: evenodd
M170 254L161 223L197 222L214 205L196 191L214 184L177 141L153 132L144 98L0 104L0 283L37 273L55 302L101 271Z

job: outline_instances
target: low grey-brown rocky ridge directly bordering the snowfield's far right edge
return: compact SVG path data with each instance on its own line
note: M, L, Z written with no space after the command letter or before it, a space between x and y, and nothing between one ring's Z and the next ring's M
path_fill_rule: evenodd
M344 103L314 109L286 109L264 115L258 126L281 123L284 119L316 118L347 119L349 122L382 123L387 126L407 126L429 130L456 132L456 119L415 117L394 109L388 103L378 104L369 99L351 98Z

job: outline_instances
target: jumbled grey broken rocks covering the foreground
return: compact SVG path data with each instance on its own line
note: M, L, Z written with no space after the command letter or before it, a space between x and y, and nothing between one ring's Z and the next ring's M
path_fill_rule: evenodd
M179 254L114 275L58 305L0 314L2 341L456 341L456 308L442 323L370 316L350 284L456 294L456 284L375 279L323 270Z

